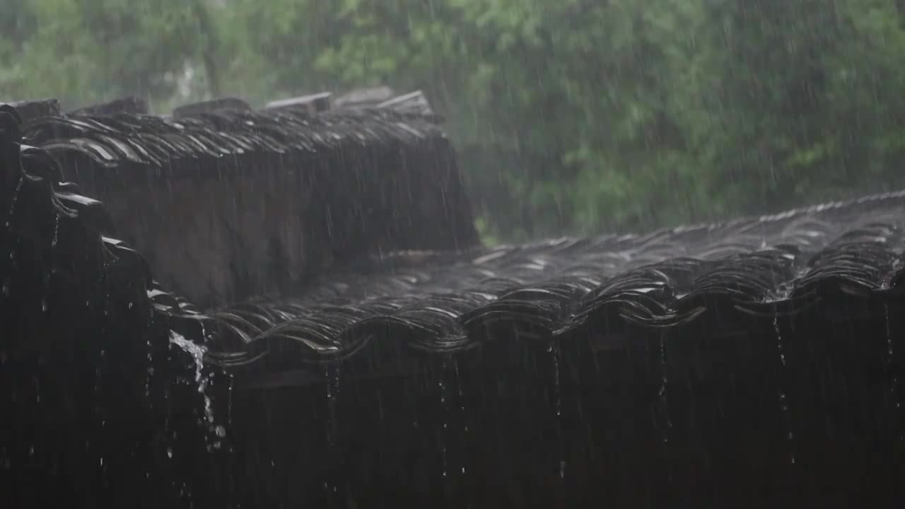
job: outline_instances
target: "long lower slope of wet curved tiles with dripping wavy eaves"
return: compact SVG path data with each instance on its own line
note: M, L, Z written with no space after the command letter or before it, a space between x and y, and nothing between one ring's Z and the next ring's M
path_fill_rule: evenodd
M614 341L627 325L773 319L830 294L900 295L903 226L905 192L897 192L647 235L400 254L330 274L297 299L203 316L219 326L221 360L259 360L265 370L343 360L385 341L454 352L589 328Z

